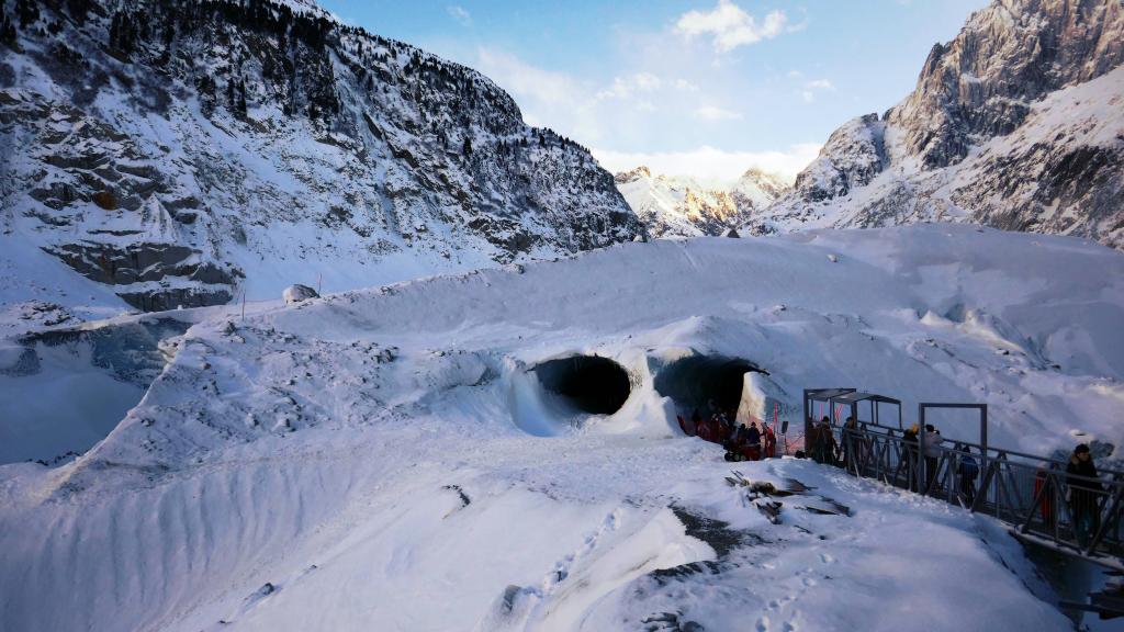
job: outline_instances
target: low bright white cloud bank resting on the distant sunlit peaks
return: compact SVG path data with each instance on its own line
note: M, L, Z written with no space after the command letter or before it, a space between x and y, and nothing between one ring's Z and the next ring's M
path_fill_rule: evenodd
M777 173L789 182L808 165L821 145L803 143L787 152L726 152L704 145L688 152L614 152L591 150L605 169L618 173L646 165L653 173L733 181L751 168Z

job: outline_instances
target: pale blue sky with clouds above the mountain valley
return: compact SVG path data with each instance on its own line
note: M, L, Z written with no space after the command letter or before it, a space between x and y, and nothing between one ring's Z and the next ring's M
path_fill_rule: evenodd
M610 170L786 175L914 87L986 0L354 2L344 20L474 67Z

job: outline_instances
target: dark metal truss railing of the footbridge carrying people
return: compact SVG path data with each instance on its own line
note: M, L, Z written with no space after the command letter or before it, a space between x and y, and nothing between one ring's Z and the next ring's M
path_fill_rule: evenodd
M1064 471L1064 461L964 441L925 457L897 428L834 427L847 472L924 493L1012 525L1023 538L1106 566L1124 557L1124 472L1094 479ZM978 472L968 476L967 457ZM922 489L921 487L925 488Z

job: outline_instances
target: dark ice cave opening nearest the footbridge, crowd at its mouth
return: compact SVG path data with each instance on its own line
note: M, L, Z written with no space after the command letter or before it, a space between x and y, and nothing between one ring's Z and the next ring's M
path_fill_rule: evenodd
M742 407L742 389L750 372L769 374L741 358L689 355L663 367L655 374L654 386L656 392L676 403L683 416L697 408L706 417L714 413L710 403L731 410Z

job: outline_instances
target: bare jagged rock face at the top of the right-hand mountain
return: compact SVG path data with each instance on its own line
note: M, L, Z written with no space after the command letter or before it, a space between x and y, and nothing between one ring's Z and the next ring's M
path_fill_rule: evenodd
M916 89L887 116L926 169L1005 135L1045 94L1096 79L1124 61L1121 2L1003 0L976 11L933 46Z

